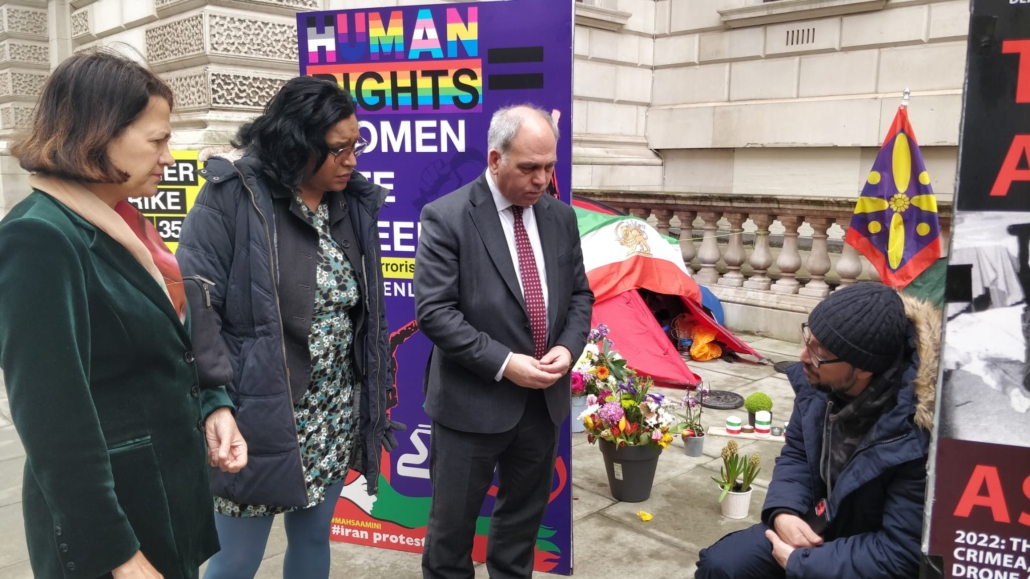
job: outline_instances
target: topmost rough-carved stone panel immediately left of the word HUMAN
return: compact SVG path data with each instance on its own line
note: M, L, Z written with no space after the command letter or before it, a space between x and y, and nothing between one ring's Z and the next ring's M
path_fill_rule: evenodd
M224 14L208 16L211 52L297 62L297 26Z

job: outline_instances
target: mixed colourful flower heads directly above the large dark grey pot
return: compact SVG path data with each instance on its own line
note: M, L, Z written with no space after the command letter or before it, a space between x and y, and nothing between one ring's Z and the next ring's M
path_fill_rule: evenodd
M620 448L668 448L673 442L670 429L679 420L671 410L676 403L650 393L652 385L650 378L627 369L625 379L616 382L614 389L602 390L599 396L587 395L587 408L579 416L586 427L587 440L593 443L599 438Z

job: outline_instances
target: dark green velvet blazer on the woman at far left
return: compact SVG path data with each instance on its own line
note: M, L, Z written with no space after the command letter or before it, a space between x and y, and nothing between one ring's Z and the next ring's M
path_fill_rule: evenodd
M0 222L0 368L25 445L36 577L104 577L141 550L166 579L218 550L186 327L129 251L34 192Z

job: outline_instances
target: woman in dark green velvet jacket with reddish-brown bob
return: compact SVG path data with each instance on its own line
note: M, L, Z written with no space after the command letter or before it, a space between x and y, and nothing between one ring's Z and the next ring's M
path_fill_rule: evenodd
M173 163L171 106L136 63L76 55L12 149L34 191L0 222L0 368L39 578L196 577L218 549L208 464L246 464L225 387L200 387L175 259L126 201Z

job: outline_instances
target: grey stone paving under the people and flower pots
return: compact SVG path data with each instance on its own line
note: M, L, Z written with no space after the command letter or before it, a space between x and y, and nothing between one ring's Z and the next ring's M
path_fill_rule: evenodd
M752 346L774 362L796 359L798 346L771 339L742 336ZM763 390L774 401L774 423L782 425L793 406L793 391L782 374L771 366L745 366L722 361L691 363L691 369L713 389L732 390L747 396ZM682 396L677 391L665 391ZM725 422L737 411L706 410L706 425ZM573 448L574 549L576 575L614 577L691 577L697 552L723 535L757 522L765 500L765 488L772 475L772 465L780 454L780 443L740 440L742 451L759 452L762 471L755 482L751 499L751 516L744 520L723 518L717 503L718 491L711 477L717 475L719 453L725 439L710 437L705 456L685 455L677 440L662 453L655 475L654 489L645 503L618 503L612 499L599 450L577 435ZM0 579L32 577L22 520L22 470L25 453L14 428L6 391L0 388ZM654 515L649 522L637 516L638 511ZM265 563L259 572L262 579L281 576L286 543L281 520L277 520L265 552ZM614 552L618 549L620 552ZM373 549L334 543L333 577L411 578L421 577L419 556L398 551ZM551 577L539 574L540 577ZM485 578L480 566L477 577Z

